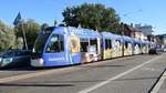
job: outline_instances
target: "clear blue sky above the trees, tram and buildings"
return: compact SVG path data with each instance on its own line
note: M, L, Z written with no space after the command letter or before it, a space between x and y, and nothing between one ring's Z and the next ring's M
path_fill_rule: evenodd
M22 19L34 19L40 24L61 23L66 7L84 2L114 8L121 22L153 25L154 34L166 33L166 0L1 0L0 20L12 25L20 11Z

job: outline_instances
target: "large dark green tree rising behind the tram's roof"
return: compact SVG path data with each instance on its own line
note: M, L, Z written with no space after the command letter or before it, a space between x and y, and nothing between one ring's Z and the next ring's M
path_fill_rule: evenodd
M120 24L120 17L113 8L105 8L100 3L83 3L68 7L62 12L66 25L83 27L98 31L111 31L114 24Z

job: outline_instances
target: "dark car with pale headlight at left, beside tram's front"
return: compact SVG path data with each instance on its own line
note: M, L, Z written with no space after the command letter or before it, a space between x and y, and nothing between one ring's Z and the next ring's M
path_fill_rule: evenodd
M0 68L30 65L30 50L7 50L0 54Z

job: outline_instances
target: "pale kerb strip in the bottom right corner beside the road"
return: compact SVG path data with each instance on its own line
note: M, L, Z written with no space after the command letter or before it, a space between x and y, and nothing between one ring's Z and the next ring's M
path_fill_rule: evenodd
M162 78L159 79L157 84L154 86L154 89L151 91L151 93L157 93L159 91L160 86L163 85L165 79L166 79L166 71L164 72L164 74L162 75Z

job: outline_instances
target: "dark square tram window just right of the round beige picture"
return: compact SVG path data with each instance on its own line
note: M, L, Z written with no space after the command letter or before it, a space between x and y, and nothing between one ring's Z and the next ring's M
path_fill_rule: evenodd
M80 39L81 52L87 52L89 39Z

